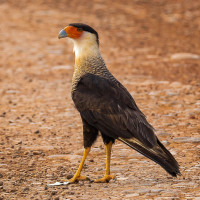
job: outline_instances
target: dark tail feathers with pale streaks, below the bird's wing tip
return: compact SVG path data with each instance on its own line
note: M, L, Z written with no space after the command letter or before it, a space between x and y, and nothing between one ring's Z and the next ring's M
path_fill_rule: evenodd
M143 145L136 138L118 138L120 141L124 142L131 148L135 149L139 153L143 154L147 158L158 163L163 167L170 175L176 177L181 175L179 171L179 164L172 156L172 154L164 147L164 145L157 139L157 144L150 148Z

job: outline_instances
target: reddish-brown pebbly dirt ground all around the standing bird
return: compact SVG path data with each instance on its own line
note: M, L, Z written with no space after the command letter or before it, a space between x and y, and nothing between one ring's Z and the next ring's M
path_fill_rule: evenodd
M0 200L200 199L200 1L1 0ZM99 32L105 62L180 164L160 166L116 142L106 184L66 180L80 162L82 125L71 100L72 43L59 31L83 22ZM103 176L105 147L83 169Z

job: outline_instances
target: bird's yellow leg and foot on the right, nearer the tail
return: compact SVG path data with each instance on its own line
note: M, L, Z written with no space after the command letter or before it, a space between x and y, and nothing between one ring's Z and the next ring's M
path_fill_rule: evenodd
M111 158L111 149L112 149L112 142L109 142L106 145L106 171L105 175L101 179L94 180L95 183L108 183L111 179L114 179L115 176L110 175L110 158Z

